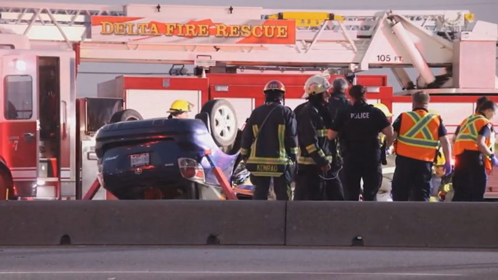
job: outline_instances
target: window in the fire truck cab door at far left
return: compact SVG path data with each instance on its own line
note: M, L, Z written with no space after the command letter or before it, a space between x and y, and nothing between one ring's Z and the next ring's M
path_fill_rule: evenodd
M29 75L5 76L3 85L5 119L31 119L33 116L33 78Z

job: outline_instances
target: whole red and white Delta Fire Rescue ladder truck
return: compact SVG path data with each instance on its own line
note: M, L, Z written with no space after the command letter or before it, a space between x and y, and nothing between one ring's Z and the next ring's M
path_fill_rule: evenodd
M174 99L189 100L195 111L223 98L244 123L271 79L286 85L286 105L294 108L309 75L347 75L395 116L410 109L414 90L425 89L451 131L474 111L478 96L498 101L497 33L496 24L468 10L0 1L0 198L79 199L97 173L93 135L115 112L162 117ZM120 76L99 84L97 98L76 99L81 62L195 69L194 75ZM392 69L401 93L393 94L386 76L355 75L382 67ZM434 74L441 67L446 73ZM416 81L405 68L418 72Z

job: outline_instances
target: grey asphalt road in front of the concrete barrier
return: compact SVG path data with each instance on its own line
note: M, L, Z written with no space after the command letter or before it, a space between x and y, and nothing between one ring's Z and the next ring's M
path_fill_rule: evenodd
M1 280L498 279L497 250L0 247Z

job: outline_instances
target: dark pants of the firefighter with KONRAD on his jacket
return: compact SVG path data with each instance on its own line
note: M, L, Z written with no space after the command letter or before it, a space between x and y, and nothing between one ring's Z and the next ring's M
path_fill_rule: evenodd
M290 200L292 190L290 183L294 177L294 167L287 166L285 172L279 177L254 176L250 175L250 181L254 185L253 200L268 200L271 178L273 178L273 190L277 200Z

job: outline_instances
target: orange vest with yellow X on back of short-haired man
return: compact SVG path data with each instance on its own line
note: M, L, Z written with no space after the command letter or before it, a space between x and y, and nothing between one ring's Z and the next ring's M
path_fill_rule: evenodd
M434 161L439 144L440 125L439 116L425 110L401 113L396 154L422 161Z

